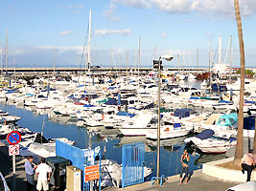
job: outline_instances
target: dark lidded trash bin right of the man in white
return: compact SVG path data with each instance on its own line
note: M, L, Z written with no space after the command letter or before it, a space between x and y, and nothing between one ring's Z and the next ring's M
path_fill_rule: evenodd
M60 157L46 158L48 165L52 168L50 183L55 186L66 185L66 166L71 164L69 159Z

